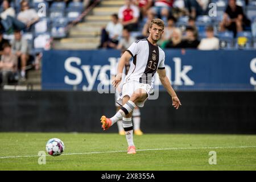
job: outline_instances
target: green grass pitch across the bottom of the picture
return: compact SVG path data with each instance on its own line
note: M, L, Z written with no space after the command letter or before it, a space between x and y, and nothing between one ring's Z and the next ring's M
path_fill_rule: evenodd
M39 165L50 138L63 140L65 151ZM125 137L108 132L0 133L0 170L256 170L256 135L144 134L134 142L137 154L127 155ZM209 164L210 151L217 164Z

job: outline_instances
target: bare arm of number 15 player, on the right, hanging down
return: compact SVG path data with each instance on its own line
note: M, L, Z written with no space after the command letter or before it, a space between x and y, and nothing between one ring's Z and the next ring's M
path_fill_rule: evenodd
M161 83L163 84L164 88L167 90L169 95L172 97L172 105L179 109L179 106L181 105L179 98L177 97L177 94L175 93L174 89L171 86L171 82L169 78L166 76L166 70L165 69L158 69L158 75L160 78Z

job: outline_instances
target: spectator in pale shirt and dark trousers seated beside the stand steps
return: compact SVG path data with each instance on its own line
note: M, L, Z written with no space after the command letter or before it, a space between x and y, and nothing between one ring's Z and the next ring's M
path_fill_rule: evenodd
M118 15L112 15L112 21L101 31L101 45L99 48L115 48L122 36L123 26L118 22Z

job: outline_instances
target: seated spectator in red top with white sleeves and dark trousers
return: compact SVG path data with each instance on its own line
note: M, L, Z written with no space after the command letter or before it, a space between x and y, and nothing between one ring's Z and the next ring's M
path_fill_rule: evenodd
M118 11L119 22L130 31L138 28L139 8L133 5L133 0L126 0L125 5Z

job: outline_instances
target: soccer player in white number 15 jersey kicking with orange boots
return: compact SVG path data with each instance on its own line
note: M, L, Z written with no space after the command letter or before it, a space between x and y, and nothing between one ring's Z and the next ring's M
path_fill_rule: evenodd
M170 80L166 76L164 51L157 44L163 34L163 30L163 20L152 19L150 28L148 28L150 32L148 38L134 42L123 53L118 63L117 76L112 82L113 86L117 88L122 80L125 62L133 57L133 64L123 81L122 91L118 97L118 101L122 99L123 106L112 118L106 118L105 115L101 117L103 130L109 129L115 122L122 119L128 143L127 154L136 154L133 142L133 123L131 122L132 112L136 106L143 107L144 102L148 99L150 93L153 92L154 84L152 83L154 82L156 71L164 88L166 88L172 98L172 105L176 109L181 105L179 98L171 86Z

